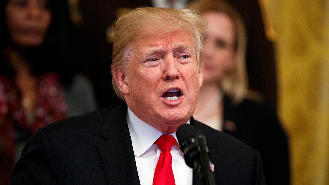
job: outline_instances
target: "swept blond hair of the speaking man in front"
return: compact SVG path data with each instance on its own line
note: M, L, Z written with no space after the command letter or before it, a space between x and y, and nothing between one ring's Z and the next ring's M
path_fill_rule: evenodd
M141 35L163 35L175 29L190 31L198 69L203 69L201 57L202 33L207 28L207 22L197 11L154 7L136 8L119 17L113 23L113 27L112 84L114 93L122 100L124 100L124 97L115 81L113 71L127 72L129 56L134 52L134 41Z

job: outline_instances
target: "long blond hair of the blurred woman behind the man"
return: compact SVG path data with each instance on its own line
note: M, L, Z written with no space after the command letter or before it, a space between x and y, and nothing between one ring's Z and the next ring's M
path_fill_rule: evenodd
M240 102L248 93L248 79L245 65L247 36L239 13L228 3L220 0L194 1L189 8L201 13L224 13L231 18L235 27L237 65L232 71L225 74L220 87L233 101Z

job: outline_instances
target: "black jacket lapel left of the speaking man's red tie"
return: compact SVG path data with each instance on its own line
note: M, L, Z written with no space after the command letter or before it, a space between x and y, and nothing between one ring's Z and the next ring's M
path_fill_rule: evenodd
M126 110L125 103L112 110L98 131L106 139L96 149L109 185L140 184Z

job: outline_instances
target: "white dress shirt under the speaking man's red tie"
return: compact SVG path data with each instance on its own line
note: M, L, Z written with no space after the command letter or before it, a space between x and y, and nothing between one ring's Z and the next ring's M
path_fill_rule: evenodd
M137 118L129 107L127 109L126 118L135 153L139 181L141 185L152 185L155 167L161 153L161 148L154 142L163 133ZM170 135L178 141L176 132ZM176 185L191 185L193 169L186 165L178 143L171 147L170 153Z

